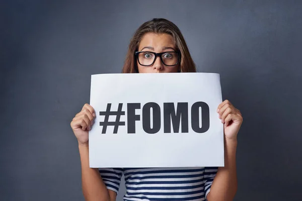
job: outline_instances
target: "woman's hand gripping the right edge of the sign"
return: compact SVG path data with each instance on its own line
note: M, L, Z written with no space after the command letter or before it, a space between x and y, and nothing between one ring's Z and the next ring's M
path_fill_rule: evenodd
M237 134L243 122L242 115L229 100L224 100L218 108L217 113L221 123L224 124L224 135L226 140L237 141Z

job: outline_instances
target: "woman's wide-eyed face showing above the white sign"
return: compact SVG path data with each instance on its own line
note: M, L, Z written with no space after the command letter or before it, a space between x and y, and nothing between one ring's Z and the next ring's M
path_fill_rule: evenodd
M138 46L138 51L143 52L175 52L176 46L172 36L168 34L145 34ZM162 58L167 65L174 65L177 60L177 54L167 53L163 54ZM149 65L154 60L154 55L149 53L140 53L136 59L137 68L139 73L157 73L157 72L178 72L180 69L180 62L174 66L167 66L162 62L160 56L158 56L153 65ZM142 65L141 65L142 64Z

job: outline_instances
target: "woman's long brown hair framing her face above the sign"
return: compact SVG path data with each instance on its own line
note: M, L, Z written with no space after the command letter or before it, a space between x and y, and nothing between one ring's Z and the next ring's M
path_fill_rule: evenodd
M138 51L138 45L142 36L146 33L169 34L173 37L177 51L181 54L180 71L196 72L194 61L190 55L189 49L179 28L169 20L154 18L143 23L134 33L129 43L128 52L125 58L123 73L137 73L136 60L134 52Z

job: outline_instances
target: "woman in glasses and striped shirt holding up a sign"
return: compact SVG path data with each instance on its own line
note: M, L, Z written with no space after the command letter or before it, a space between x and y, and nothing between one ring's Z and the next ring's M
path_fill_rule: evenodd
M157 72L196 72L180 30L165 19L153 19L138 28L123 67L123 73ZM233 200L237 134L243 118L229 100L217 107L217 116L224 124L224 167L89 168L88 131L96 115L85 104L70 124L79 142L85 199L115 200L124 174L124 200Z

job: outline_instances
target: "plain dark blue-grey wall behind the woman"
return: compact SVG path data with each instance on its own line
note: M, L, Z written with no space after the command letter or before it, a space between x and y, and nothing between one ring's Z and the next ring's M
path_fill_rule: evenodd
M154 17L241 110L235 200L301 200L301 1L1 1L1 200L84 200L70 121ZM117 147L118 149L118 147ZM121 191L124 187L121 187ZM121 199L122 194L118 196Z

